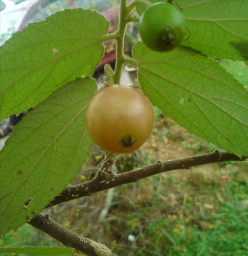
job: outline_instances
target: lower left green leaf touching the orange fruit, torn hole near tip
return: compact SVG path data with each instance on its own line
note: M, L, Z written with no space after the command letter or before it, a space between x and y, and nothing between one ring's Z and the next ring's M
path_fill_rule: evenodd
M95 91L90 77L69 82L15 127L0 152L2 234L31 220L84 164L92 145L85 108Z

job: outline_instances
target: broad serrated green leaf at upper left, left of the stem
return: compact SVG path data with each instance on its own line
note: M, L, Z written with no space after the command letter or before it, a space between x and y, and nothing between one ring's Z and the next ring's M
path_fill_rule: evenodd
M0 120L36 106L77 77L91 76L108 27L98 12L74 9L15 33L0 51Z

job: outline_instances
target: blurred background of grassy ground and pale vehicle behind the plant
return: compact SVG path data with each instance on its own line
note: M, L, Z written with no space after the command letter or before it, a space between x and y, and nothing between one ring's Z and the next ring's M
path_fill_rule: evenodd
M3 45L30 22L65 8L96 9L118 24L117 0L0 1ZM138 39L138 28L127 30L125 52ZM101 86L103 66L115 65L115 44L105 44L105 56L94 74ZM242 61L223 60L221 65L248 90L248 68ZM123 84L138 84L136 68L124 66ZM154 163L211 152L215 146L193 134L154 108L156 123L149 140L130 154L117 155L116 173ZM15 124L26 115L11 116L0 123L0 147ZM71 184L92 179L105 152L94 145L91 156ZM46 209L54 220L78 234L105 243L122 256L247 256L248 255L248 163L226 162L154 175L134 184L101 191L90 197ZM9 232L0 246L59 246L59 242L28 224ZM18 255L9 253L4 255ZM23 255L23 254L20 254Z

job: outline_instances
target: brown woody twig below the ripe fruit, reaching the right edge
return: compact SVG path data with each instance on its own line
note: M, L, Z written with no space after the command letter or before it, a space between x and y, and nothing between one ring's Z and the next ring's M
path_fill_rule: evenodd
M107 159L107 158L106 158ZM117 186L136 182L140 179L155 175L157 173L169 172L172 170L189 169L193 166L202 164L218 163L225 161L244 161L246 157L238 157L235 154L230 154L226 151L215 150L207 154L200 154L198 156L190 156L181 159L168 160L168 161L157 161L157 163L138 168L133 171L120 173L115 175L110 171L110 166L113 164L113 159L108 162L107 160L103 163L103 166L96 174L94 179L86 181L82 184L70 186L61 192L52 200L50 204L46 206L61 204L69 200L80 198L83 196L89 196L93 193L103 191L105 189L115 188ZM105 169L105 167L106 169Z

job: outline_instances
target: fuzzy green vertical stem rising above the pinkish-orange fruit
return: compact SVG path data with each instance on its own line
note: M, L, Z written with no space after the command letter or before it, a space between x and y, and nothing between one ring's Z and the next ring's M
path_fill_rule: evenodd
M126 31L126 26L128 24L128 12L126 6L127 0L120 0L120 15L119 15L119 27L116 42L116 63L115 63L115 74L113 76L113 81L115 84L120 83L120 77L122 72L123 53L124 53L124 36Z

